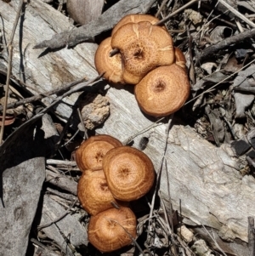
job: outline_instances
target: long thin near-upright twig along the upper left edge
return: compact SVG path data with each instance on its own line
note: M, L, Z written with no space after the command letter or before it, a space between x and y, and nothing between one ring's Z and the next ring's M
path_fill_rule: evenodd
M8 42L8 71L7 71L7 78L6 78L6 88L5 88L5 96L4 96L4 103L3 103L3 117L2 117L2 127L0 131L0 145L3 144L3 131L4 131L4 122L6 117L6 110L7 110L7 103L8 103L8 88L9 88L9 81L12 72L12 60L13 60L13 41L14 41L14 34L18 25L18 21L20 19L21 10L23 8L23 4L26 3L24 0L20 0L19 9L17 10L16 18L14 20L14 27Z

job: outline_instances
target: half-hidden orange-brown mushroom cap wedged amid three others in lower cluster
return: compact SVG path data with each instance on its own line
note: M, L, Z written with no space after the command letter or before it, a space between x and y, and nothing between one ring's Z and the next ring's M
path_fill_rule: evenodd
M78 181L77 196L82 208L91 215L114 208L116 205L127 206L127 202L117 202L106 183L104 171L86 170Z

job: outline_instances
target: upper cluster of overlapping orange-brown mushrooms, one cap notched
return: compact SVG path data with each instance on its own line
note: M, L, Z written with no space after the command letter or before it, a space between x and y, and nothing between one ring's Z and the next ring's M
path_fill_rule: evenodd
M134 94L144 113L165 117L178 111L190 95L185 57L158 19L128 14L99 44L94 63L113 83L135 85ZM117 54L111 56L113 50Z

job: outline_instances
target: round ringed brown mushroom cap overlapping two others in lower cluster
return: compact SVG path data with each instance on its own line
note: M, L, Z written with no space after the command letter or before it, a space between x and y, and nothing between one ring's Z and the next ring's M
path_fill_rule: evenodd
M108 151L103 159L103 170L112 195L121 201L129 202L144 196L155 179L150 158L130 146Z

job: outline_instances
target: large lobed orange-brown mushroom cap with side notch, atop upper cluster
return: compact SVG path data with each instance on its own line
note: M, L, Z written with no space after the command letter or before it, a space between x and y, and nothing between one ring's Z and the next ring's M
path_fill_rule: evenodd
M149 21L121 26L111 37L111 47L120 50L123 79L131 84L157 66L173 64L175 59L172 37Z

